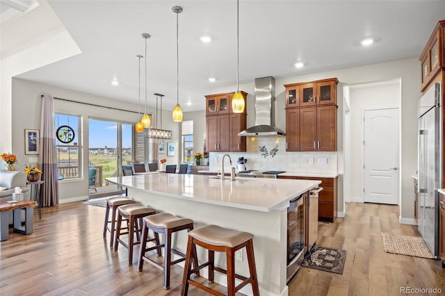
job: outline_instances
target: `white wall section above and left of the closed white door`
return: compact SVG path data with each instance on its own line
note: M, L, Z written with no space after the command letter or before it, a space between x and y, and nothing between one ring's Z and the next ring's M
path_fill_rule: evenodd
M363 202L364 186L364 110L399 108L400 81L391 83L371 83L350 87L350 200Z

